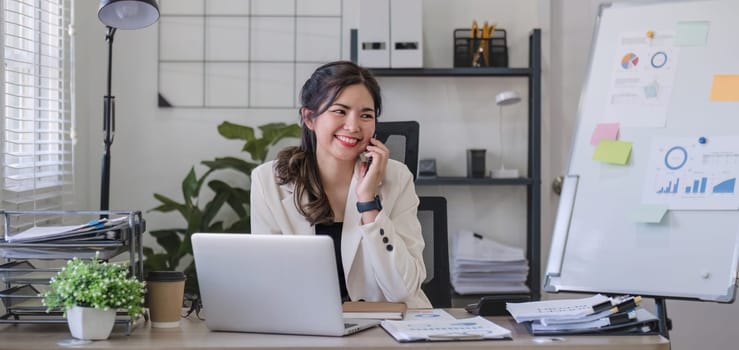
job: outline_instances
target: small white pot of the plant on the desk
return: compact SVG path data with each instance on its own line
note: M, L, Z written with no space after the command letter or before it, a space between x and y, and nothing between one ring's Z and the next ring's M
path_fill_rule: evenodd
M67 309L67 324L72 336L83 340L108 339L115 323L115 309L107 311L75 306Z

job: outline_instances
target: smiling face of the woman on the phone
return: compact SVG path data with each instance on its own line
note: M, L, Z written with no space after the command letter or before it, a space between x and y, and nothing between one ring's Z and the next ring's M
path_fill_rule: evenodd
M316 157L354 162L375 133L374 100L362 84L345 87L325 112L304 117L316 134Z

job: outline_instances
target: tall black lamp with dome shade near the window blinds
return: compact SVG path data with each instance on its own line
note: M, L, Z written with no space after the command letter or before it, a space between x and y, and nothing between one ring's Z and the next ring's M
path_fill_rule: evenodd
M103 99L103 167L100 182L100 210L108 210L110 203L110 146L115 137L115 97L111 96L113 68L113 36L117 29L140 29L159 19L156 0L100 0L98 18L108 28L108 86Z

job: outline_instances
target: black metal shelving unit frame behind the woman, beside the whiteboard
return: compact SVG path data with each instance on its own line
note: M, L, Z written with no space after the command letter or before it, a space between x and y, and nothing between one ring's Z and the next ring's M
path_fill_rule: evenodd
M528 174L515 179L434 177L418 178L417 186L524 186L526 187L526 258L529 275L526 281L531 300L541 298L541 30L529 36L528 68L422 68L373 69L381 77L523 77L528 79ZM461 296L470 301L479 296Z

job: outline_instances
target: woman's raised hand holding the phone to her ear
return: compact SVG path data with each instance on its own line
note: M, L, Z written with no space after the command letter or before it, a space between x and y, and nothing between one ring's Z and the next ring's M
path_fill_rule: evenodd
M378 139L370 139L367 146L368 157L372 157L372 163L367 168L367 162L359 164L359 177L357 181L357 200L360 202L371 201L378 193L378 188L385 177L387 160L390 158L390 150Z

